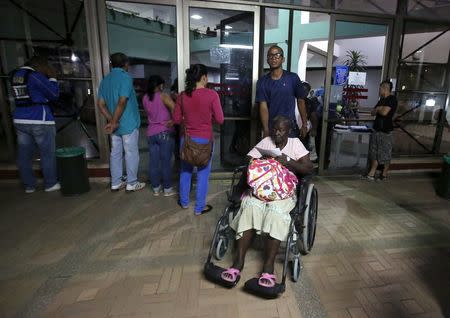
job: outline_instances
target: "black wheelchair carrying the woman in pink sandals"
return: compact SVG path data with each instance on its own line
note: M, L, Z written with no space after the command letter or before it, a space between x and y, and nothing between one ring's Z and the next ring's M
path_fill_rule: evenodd
M234 283L224 282L221 279L221 273L225 270L212 262L213 256L221 260L229 249L230 243L235 241L235 233L230 227L231 221L236 216L240 208L239 190L236 186L237 176L246 171L246 166L234 170L230 190L227 192L228 205L219 218L214 235L209 248L208 257L204 265L205 277L224 287L234 287ZM301 255L310 253L316 236L317 225L317 207L318 194L317 189L312 183L312 176L299 178L297 185L297 203L290 212L291 222L289 225L289 234L284 251L283 274L280 284L275 287L258 287L257 278L246 282L244 288L249 292L255 293L265 298L276 298L285 291L286 276L290 265L291 278L294 282L300 279L301 274Z

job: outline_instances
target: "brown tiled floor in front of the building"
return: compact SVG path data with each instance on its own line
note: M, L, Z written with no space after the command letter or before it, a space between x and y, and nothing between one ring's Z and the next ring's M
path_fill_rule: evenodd
M62 197L0 183L0 317L450 317L450 202L434 179L315 182L317 241L277 300L202 276L227 181L211 182L214 212L201 217L149 190L92 183Z

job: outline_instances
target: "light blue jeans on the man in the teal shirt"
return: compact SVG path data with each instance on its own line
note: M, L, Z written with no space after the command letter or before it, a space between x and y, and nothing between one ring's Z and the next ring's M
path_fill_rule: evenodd
M127 183L134 185L137 181L139 168L139 129L133 130L129 135L111 135L111 156L109 169L111 171L111 185L119 186L122 183L123 152L125 151L125 167Z

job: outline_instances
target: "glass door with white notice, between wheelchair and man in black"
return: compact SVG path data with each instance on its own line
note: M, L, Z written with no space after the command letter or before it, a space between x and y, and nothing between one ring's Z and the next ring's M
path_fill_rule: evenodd
M370 111L386 77L390 21L333 16L320 140L321 172L366 169Z

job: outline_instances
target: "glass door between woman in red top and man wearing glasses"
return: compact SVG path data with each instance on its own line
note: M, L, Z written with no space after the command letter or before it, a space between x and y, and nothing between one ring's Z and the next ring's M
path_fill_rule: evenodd
M210 88L220 96L225 122L214 127L213 170L233 168L246 162L256 142L256 121L252 120L257 79L259 9L255 6L190 2L185 7L189 28L187 64L208 68ZM187 68L189 65L185 65Z

